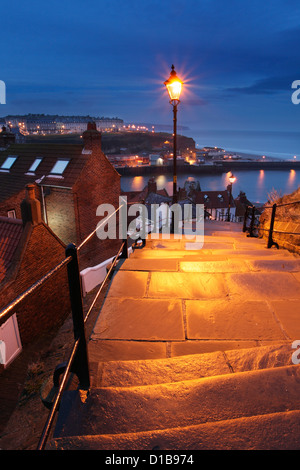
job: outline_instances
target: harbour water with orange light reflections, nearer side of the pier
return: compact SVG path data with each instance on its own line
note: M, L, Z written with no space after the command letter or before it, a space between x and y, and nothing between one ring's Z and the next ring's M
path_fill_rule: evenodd
M122 176L121 187L123 191L141 191L152 175L147 176ZM172 195L173 184L172 175L153 175L157 188L166 188ZM202 191L221 191L226 189L229 180L228 173L220 175L190 175L188 173L177 176L177 187L184 187L185 181L189 177L195 178L200 183ZM232 186L233 196L238 196L240 191L244 191L251 202L264 203L268 200L268 195L274 190L279 194L288 194L295 191L300 185L300 171L283 170L253 170L234 172L236 177Z

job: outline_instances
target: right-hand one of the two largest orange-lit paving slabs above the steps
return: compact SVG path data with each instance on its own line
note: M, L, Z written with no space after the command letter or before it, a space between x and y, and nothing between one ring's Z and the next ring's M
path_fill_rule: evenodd
M266 302L186 301L188 339L285 340Z

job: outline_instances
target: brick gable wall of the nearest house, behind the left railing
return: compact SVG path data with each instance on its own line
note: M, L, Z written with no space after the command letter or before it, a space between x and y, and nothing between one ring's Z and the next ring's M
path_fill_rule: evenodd
M31 226L24 249L19 254L18 270L1 290L0 308L5 307L64 258L64 245L44 224ZM13 313L17 313L22 344L28 344L43 332L62 324L69 312L67 271L63 268L14 310Z

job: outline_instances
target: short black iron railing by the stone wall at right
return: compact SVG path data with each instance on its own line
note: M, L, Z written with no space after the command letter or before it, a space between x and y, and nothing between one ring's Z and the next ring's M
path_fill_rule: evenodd
M263 210L266 209L271 209L271 217L270 217L270 226L269 228L264 228L260 225L259 223L259 216L261 213L258 211L258 209L255 206L247 206L245 215L244 215L244 223L243 223L243 232L248 232L248 236L250 237L257 237L259 231L265 231L268 232L268 244L267 248L272 248L272 246L276 246L276 248L279 248L279 245L277 242L273 240L273 234L282 234L282 235L300 235L299 232L288 232L284 230L278 230L274 229L274 224L275 224L275 218L276 218L276 211L279 207L287 207L287 206L292 206L295 204L300 204L300 201L291 201L291 202L286 202L286 203L281 203L281 204L272 204L270 206L264 206Z

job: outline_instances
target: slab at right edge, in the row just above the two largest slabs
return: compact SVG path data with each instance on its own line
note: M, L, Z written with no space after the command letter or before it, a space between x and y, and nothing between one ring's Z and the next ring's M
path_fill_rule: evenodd
M225 274L231 295L255 299L300 299L300 282L291 273Z

